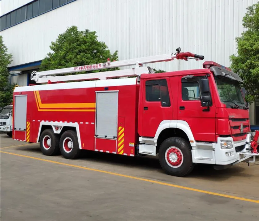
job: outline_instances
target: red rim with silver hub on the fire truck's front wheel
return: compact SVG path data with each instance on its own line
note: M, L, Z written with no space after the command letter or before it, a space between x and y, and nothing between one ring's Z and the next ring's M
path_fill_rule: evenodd
M183 153L177 147L169 147L165 153L166 162L171 167L179 167L183 163Z

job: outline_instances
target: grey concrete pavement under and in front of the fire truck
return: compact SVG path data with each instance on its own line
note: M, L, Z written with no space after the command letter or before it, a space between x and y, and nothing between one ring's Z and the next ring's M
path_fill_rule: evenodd
M179 178L156 158L84 151L67 160L4 134L0 151L1 221L259 220L258 159Z

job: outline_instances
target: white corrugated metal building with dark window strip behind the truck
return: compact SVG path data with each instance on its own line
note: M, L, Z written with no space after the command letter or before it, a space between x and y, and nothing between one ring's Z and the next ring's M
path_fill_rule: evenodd
M67 27L95 30L119 59L175 52L177 47L230 65L242 18L257 0L0 0L1 35L14 61L12 82L26 85L50 43ZM201 68L203 61L153 64L162 70ZM17 72L18 71L18 72ZM26 82L27 79L27 82ZM259 124L259 102L250 108ZM257 117L256 117L257 113Z

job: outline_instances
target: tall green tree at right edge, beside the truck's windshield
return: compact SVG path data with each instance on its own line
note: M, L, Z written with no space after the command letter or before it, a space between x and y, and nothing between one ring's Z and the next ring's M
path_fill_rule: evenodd
M231 55L231 68L244 81L246 101L259 97L259 2L247 8L243 17L246 30L236 38L237 55Z

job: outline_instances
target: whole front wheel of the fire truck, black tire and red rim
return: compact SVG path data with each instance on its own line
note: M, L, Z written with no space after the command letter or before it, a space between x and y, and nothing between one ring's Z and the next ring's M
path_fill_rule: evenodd
M159 162L165 173L178 177L191 173L194 167L191 150L190 143L183 138L171 137L162 142L159 148Z

